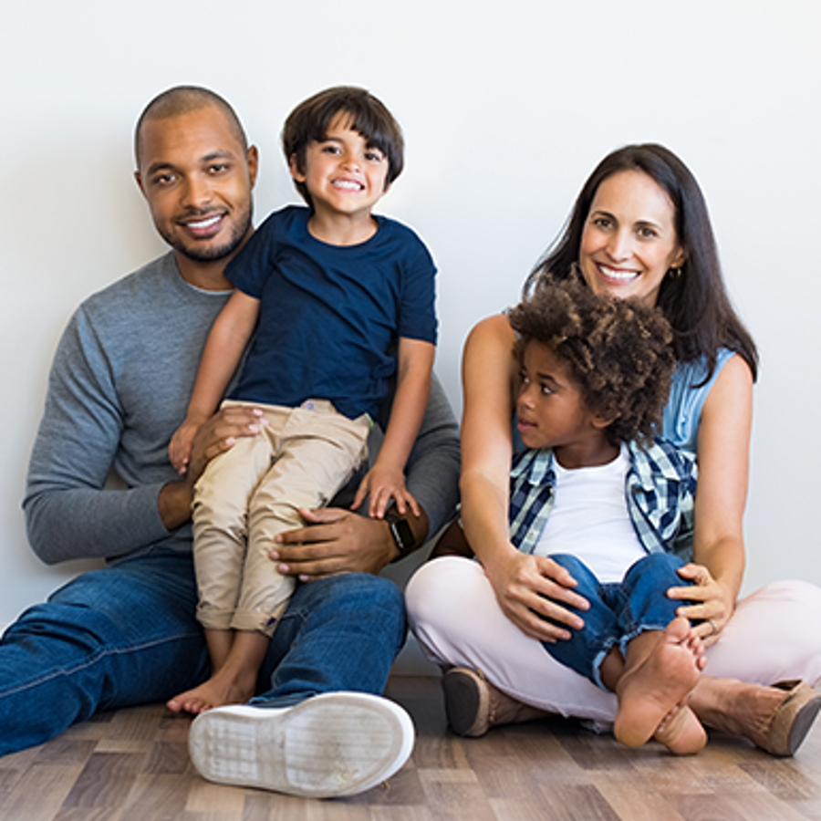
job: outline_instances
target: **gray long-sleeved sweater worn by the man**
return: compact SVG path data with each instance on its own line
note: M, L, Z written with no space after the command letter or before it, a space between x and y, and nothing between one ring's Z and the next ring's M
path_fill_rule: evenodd
M168 443L228 296L188 285L169 253L90 296L71 317L23 502L29 541L44 562L190 549L190 525L166 530L157 496L178 478ZM124 489L107 485L111 473ZM436 379L407 473L432 534L453 514L459 476L458 428Z

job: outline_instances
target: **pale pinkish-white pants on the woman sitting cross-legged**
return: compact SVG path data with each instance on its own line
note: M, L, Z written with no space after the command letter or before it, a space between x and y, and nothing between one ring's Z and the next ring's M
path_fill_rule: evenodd
M405 592L422 651L442 667L480 668L518 701L546 712L612 722L616 697L599 690L525 636L496 602L479 562L442 556L422 565ZM759 684L821 679L821 588L774 582L741 599L706 651L705 675Z

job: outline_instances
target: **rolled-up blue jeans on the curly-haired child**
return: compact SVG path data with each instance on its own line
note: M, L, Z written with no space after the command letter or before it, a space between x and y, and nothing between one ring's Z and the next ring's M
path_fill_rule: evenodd
M602 690L599 669L608 652L618 647L622 656L629 642L644 630L663 630L676 618L682 602L667 598L670 587L689 584L676 568L683 566L678 556L650 553L629 566L620 583L601 584L576 556L550 556L577 581L574 591L587 599L588 610L566 607L585 622L580 630L570 629L570 639L543 642L554 659L585 676Z

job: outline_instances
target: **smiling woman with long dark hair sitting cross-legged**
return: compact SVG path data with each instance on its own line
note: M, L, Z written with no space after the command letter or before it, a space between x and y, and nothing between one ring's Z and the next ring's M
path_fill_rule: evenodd
M680 571L695 587L669 595L690 602L680 613L697 625L709 673L689 704L708 726L791 755L821 708L804 683L821 678L813 635L821 589L781 582L736 601L757 355L726 295L701 190L674 154L637 145L601 161L525 293L548 274L564 278L575 269L597 293L658 305L673 327L679 365L663 434L696 454L699 483L693 559ZM444 556L423 566L407 590L423 650L447 669L449 720L469 735L540 712L594 723L615 715L614 696L562 668L542 645L578 626L563 607L575 600L572 580L509 540L513 347L499 315L473 328L464 350L462 525L481 566Z

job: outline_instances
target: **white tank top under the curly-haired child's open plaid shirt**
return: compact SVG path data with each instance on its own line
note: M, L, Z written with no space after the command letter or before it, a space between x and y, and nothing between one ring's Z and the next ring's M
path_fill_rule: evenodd
M618 582L637 559L647 556L633 529L625 496L630 469L627 446L608 464L567 470L556 459L556 496L534 553L569 553L600 582Z

